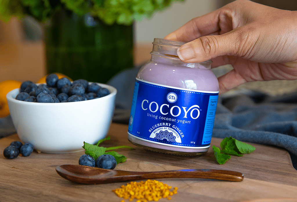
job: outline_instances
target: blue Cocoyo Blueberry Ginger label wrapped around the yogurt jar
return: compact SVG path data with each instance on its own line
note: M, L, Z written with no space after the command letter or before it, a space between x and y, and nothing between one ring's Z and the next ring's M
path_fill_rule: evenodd
M210 145L218 92L175 88L136 78L128 133L181 148Z

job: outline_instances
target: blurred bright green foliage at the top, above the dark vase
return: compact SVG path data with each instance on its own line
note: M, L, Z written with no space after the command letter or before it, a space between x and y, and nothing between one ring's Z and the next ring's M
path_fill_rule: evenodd
M80 16L91 14L109 25L130 25L134 20L151 17L173 1L184 0L0 0L0 19L30 15L42 22L56 10L67 9Z

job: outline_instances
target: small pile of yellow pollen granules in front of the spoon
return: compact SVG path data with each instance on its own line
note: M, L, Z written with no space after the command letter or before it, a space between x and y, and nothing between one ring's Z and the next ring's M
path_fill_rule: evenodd
M174 187L173 191L170 191L171 188L163 182L148 179L145 182L130 182L126 186L122 185L121 188L112 191L121 198L129 199L129 201L136 199L136 202L147 202L159 201L161 198L170 200L170 196L177 193L177 187Z

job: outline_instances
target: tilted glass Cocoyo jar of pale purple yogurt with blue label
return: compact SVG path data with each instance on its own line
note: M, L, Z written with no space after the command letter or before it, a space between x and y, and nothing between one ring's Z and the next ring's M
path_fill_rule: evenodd
M219 93L211 60L181 61L180 41L154 39L153 44L151 60L136 76L128 140L162 153L206 153Z

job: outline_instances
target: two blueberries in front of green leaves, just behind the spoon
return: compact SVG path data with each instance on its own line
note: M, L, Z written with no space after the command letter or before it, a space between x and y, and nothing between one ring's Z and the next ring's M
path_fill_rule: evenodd
M116 158L110 154L103 154L95 159L90 155L82 155L78 160L79 165L98 167L103 169L114 169L116 167Z

